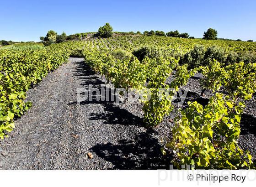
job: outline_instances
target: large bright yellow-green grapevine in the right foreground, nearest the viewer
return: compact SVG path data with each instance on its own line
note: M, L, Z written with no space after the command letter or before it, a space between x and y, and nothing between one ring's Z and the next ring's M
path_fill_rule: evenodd
M196 101L181 111L166 146L174 151L175 166L196 169L252 168L251 155L238 146L241 113L245 105L216 94L203 108Z

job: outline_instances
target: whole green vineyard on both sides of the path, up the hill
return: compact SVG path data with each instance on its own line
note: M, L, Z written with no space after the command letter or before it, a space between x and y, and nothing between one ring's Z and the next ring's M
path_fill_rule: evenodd
M160 144L159 158L167 167L255 168L255 146L246 146L250 139L256 140L252 122L256 119L255 42L127 35L0 47L3 141L33 106L26 92L69 57L84 58L84 65L106 84L142 95L136 106L131 105L141 111L142 120L136 125L159 133L155 144ZM185 102L178 104L182 98L175 93L186 90ZM251 125L247 131L251 136L243 136L249 143L240 135L246 125ZM149 142L148 149L155 146Z

